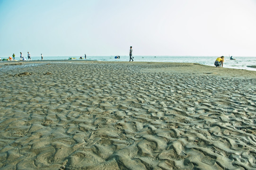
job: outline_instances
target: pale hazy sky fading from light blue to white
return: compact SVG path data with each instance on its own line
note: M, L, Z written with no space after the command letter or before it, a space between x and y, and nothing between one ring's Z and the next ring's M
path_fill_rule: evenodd
M256 57L256 0L0 0L0 57Z

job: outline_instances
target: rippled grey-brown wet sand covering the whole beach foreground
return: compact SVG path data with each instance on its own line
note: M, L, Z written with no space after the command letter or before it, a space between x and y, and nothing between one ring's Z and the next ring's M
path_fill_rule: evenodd
M1 170L256 169L255 71L13 63L0 63Z

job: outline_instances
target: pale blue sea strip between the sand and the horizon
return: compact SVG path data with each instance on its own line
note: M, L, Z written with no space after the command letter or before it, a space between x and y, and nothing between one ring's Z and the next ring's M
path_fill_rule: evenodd
M84 58L84 56L81 56ZM214 66L214 61L220 56L133 56L134 61L142 62L177 62L177 63L199 63L208 66ZM41 60L41 57L31 57L33 60ZM55 56L44 57L44 60L67 60L69 58L76 58L80 60L80 56ZM233 57L234 60L230 60L229 57L225 57L223 64L224 68L236 68L256 71L256 57ZM19 59L19 57L16 57ZM87 56L86 60L92 61L129 61L129 56L120 56L120 59L115 59L115 56ZM81 59L85 60L85 59ZM8 62L8 61L3 61ZM254 68L251 68L254 67Z

